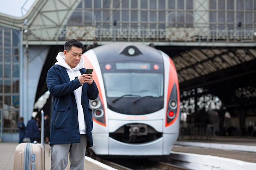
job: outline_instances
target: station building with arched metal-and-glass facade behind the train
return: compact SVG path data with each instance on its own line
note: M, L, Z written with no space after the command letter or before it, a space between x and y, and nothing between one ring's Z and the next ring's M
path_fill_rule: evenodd
M43 107L36 103L47 93L47 70L72 38L92 48L155 46L175 63L182 112L213 107L223 117L228 110L240 129L252 125L255 9L256 0L35 0L22 17L0 13L1 141L18 141L19 117L27 123L43 107L51 114L49 95Z

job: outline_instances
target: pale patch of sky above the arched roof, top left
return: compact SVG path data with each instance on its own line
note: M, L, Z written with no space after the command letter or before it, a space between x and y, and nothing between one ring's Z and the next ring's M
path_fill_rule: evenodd
M0 13L22 17L29 11L34 2L35 0L5 0L0 5Z

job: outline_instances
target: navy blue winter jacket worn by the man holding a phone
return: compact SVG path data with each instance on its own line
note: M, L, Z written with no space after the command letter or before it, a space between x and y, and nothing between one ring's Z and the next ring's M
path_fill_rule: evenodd
M79 70L81 74L85 68ZM52 122L50 130L50 145L72 144L80 142L79 124L74 90L81 86L78 78L70 81L66 68L54 65L47 73L47 87L53 98ZM98 88L93 82L83 84L82 106L86 122L87 146L93 146L92 142L92 109L88 99L98 97Z

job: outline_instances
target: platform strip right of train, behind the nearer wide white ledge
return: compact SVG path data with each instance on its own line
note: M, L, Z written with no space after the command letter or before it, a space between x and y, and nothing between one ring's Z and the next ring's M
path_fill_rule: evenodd
M206 139L183 136L177 140L172 151L256 163L256 137L216 136L215 138Z

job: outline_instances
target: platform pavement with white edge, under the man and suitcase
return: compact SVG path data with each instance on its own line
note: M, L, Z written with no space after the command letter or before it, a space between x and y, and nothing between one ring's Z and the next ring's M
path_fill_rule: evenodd
M16 142L0 142L0 170L13 170L14 152L17 145ZM45 144L45 170L50 170L50 165L49 144ZM85 157L84 165L86 170L116 170L90 157ZM69 170L69 166L68 163L65 170Z

